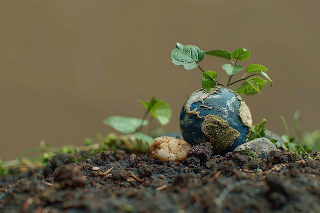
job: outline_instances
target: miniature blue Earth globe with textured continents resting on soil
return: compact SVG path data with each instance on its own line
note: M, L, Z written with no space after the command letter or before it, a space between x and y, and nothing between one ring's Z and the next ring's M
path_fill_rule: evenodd
M210 142L214 154L225 154L246 142L252 117L245 102L231 89L198 89L182 107L180 129L191 145Z

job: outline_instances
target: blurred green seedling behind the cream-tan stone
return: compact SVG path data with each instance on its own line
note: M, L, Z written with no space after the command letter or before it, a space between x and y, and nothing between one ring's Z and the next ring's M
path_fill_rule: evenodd
M136 140L131 140L135 150L146 152L151 144L153 137L151 135L151 122L156 119L161 125L169 123L171 118L171 108L164 100L157 100L154 97L150 101L139 102L146 108L142 119L136 117L110 116L103 121L103 124L111 126L123 134L132 134ZM149 121L147 121L147 116ZM148 134L142 132L143 126L149 126Z

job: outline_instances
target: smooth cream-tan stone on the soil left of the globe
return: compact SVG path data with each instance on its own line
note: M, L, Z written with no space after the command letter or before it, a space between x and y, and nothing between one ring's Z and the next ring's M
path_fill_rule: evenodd
M163 136L155 138L148 147L148 151L150 157L165 162L185 161L190 148L191 145L185 140Z

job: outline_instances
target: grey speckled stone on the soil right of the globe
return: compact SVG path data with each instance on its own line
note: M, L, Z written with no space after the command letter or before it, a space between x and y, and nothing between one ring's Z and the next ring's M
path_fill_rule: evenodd
M265 159L271 150L277 150L277 147L267 138L260 137L236 147L234 153Z

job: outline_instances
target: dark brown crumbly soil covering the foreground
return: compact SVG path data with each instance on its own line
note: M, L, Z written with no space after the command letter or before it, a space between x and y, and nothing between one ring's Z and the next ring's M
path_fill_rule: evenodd
M57 154L1 177L0 212L320 212L319 152L211 153L203 144L164 162L116 150L77 163L82 154Z

